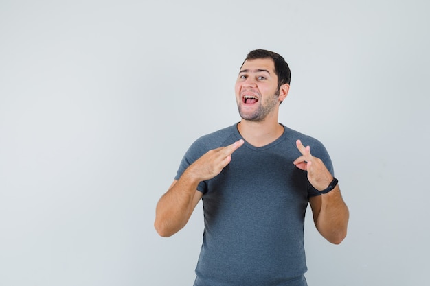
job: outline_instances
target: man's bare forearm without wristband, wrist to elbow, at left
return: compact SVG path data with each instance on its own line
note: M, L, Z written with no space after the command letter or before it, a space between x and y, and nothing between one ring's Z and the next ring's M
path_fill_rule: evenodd
M185 171L160 198L155 211L155 229L163 237L170 237L187 224L194 210L194 196L199 181Z

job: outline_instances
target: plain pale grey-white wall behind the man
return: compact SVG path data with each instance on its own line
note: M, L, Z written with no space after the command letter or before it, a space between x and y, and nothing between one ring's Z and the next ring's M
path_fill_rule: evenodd
M155 205L197 137L240 120L251 49L286 58L280 122L326 145L350 208L306 217L309 285L428 285L428 1L0 1L0 285L192 285L198 206Z

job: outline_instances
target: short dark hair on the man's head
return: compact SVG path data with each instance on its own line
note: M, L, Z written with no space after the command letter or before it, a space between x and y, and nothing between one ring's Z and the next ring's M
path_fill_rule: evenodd
M256 60L258 58L271 58L275 64L275 73L278 75L278 91L282 84L290 84L291 82L291 71L290 67L284 60L284 58L278 53L273 51L267 51L265 49L254 49L250 51L247 58L242 63L245 64L247 60Z

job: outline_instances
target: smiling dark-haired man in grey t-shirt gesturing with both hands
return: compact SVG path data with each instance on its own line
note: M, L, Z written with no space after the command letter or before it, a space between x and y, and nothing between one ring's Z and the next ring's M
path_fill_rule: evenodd
M321 235L346 237L348 208L326 149L278 123L290 79L282 56L251 51L235 88L242 119L195 141L157 204L155 228L168 237L203 200L195 286L306 285L308 203Z

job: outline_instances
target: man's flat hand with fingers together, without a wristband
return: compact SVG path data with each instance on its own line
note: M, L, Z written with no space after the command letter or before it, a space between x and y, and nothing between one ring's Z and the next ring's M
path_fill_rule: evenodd
M230 163L231 154L243 143L240 139L231 145L209 150L188 167L188 174L199 182L214 178Z

